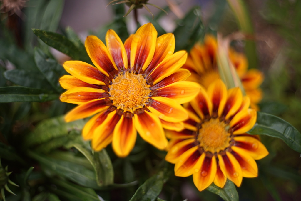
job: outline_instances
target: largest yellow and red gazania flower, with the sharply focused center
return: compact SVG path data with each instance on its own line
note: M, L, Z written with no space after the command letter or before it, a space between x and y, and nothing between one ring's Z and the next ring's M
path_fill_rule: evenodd
M183 81L190 72L179 69L187 53L174 53L172 33L157 38L151 23L140 27L123 44L108 30L106 46L96 36L88 36L85 47L96 68L82 61L67 61L71 75L61 77L67 89L61 101L79 106L66 116L67 122L91 118L82 130L85 140L101 150L112 142L119 157L133 149L137 131L158 149L165 149L163 128L181 130L187 112L180 105L193 99L200 86Z

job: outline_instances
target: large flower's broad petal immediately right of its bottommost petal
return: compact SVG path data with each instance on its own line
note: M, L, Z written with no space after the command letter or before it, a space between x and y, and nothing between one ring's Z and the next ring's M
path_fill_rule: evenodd
M148 111L137 114L136 111L134 114L134 123L140 136L158 149L165 149L168 142L157 115Z

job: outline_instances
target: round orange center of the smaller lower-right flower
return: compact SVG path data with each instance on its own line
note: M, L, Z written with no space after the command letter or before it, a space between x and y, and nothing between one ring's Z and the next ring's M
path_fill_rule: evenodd
M230 145L231 134L227 124L219 119L210 119L204 122L199 129L197 140L204 151L218 153Z

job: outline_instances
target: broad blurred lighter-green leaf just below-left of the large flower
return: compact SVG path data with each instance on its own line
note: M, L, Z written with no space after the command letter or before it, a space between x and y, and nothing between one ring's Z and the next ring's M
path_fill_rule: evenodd
M80 119L66 123L64 116L45 119L25 137L26 146L42 144L57 137L68 135L72 130L81 130L85 121Z

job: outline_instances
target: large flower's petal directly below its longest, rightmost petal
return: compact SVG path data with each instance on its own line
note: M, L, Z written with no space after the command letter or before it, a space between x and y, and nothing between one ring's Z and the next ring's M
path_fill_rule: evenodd
M165 121L179 122L188 118L186 110L180 104L161 96L150 98L147 109Z

